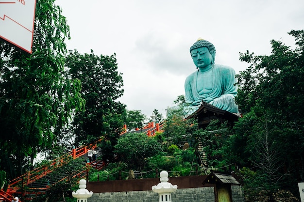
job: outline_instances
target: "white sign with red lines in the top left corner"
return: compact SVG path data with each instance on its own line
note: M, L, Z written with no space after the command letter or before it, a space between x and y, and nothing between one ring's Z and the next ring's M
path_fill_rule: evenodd
M36 0L0 0L0 38L32 53Z

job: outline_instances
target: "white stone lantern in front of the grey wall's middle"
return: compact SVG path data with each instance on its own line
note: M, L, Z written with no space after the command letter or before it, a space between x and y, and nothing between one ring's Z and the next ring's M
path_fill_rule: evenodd
M160 183L158 185L152 186L152 191L158 193L159 202L171 202L171 193L176 191L177 185L172 185L169 183L168 172L161 171L160 175Z

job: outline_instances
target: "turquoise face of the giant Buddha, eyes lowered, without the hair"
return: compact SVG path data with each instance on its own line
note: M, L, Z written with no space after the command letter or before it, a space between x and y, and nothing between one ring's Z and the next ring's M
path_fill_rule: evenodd
M214 53L210 53L207 47L199 47L191 50L191 56L194 64L198 68L205 68L214 63Z

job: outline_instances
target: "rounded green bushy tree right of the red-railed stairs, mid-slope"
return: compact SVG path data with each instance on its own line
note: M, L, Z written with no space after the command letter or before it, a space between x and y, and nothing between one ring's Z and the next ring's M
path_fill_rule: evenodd
M143 168L145 158L162 151L161 144L145 133L127 133L119 138L114 147L122 161L127 162L131 169Z

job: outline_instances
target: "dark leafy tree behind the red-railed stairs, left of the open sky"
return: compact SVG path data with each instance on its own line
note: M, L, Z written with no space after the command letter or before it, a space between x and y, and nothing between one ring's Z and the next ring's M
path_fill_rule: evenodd
M115 56L97 56L93 50L89 54L74 50L67 55L69 77L81 81L85 100L85 111L77 112L72 122L76 147L82 141L91 143L86 141L90 136L94 140L121 132L125 106L116 101L123 94L123 81Z

